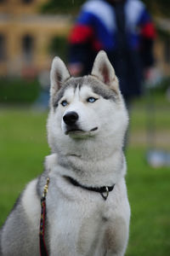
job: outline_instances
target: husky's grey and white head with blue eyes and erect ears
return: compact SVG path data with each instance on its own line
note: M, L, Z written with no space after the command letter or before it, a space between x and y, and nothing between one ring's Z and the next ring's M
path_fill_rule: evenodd
M127 111L104 51L97 55L92 73L81 78L71 77L64 62L55 57L50 79L48 143L52 151L85 146L89 141L105 145L106 140L113 148L122 147Z

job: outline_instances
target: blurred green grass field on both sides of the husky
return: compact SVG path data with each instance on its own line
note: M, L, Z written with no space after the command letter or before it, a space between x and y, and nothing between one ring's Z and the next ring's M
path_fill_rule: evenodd
M145 132L144 108L132 112L131 137ZM43 170L49 154L47 113L27 108L0 109L0 225L27 182ZM170 114L158 112L159 131L169 131ZM165 148L169 144L165 143ZM127 256L170 255L170 170L153 169L145 160L146 145L130 142L127 149L127 190L132 210Z

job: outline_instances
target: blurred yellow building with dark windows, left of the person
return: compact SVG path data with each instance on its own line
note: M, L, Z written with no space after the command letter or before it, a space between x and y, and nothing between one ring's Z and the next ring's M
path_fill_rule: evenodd
M0 76L34 77L50 67L49 45L68 34L71 21L65 15L41 15L46 1L0 0Z

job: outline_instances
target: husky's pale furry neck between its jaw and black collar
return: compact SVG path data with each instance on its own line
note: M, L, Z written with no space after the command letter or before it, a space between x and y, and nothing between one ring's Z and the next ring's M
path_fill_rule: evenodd
M85 160L76 154L52 154L46 161L49 169L74 178L77 182L88 186L111 186L118 183L126 173L126 162L122 150L116 150L107 158ZM61 168L59 168L59 166Z

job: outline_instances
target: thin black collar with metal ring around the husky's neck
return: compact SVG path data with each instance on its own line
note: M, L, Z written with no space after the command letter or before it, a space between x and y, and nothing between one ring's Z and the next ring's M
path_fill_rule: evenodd
M109 195L109 192L111 192L114 189L114 187L115 187L115 184L113 184L112 186L103 186L103 187L86 187L86 186L82 185L81 183L78 183L77 180L75 180L72 177L65 176L65 178L67 180L69 180L70 183L73 184L74 186L81 187L82 189L88 189L90 191L94 191L94 192L100 193L100 195L102 195L102 197L105 200L107 199L107 197Z

